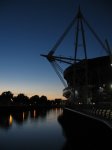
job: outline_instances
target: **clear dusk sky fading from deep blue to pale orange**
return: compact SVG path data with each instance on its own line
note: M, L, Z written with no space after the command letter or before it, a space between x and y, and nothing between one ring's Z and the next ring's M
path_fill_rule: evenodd
M0 94L12 91L29 97L63 98L62 83L40 54L50 51L76 15L79 4L89 24L103 41L107 38L112 47L111 0L0 1ZM69 56L73 47L70 44L74 44L71 41L69 37L63 42L62 55ZM94 45L90 38L88 41L90 57L105 55L102 48L97 48L96 41ZM56 54L61 55L59 48Z

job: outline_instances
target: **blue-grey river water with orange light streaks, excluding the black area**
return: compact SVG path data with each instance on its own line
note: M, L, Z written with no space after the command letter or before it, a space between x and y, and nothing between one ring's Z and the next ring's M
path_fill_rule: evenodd
M63 110L0 113L0 150L61 150L65 138L57 120Z

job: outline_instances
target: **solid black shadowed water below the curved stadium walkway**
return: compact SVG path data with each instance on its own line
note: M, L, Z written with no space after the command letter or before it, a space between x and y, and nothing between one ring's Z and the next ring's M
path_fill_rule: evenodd
M112 130L100 122L63 113L58 117L66 142L63 150L109 149Z

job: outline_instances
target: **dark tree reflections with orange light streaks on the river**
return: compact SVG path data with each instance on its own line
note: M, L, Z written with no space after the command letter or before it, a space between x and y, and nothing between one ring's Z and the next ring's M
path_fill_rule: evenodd
M62 109L59 109L60 112L57 113L57 109L55 109L56 115L59 115L61 113ZM45 119L47 114L51 111L53 117L54 117L54 110L48 110L48 109L41 109L41 110L30 110L30 111L14 111L11 113L7 112L0 112L0 128L4 129L10 129L13 122L15 122L18 125L22 125L24 122L26 122L28 119L32 120L38 120L39 118Z

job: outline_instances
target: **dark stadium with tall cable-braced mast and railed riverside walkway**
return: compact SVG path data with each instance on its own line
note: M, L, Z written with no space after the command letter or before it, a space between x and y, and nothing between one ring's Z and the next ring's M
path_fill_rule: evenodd
M98 62L99 58L98 60L97 58L92 58L92 60L88 58L85 26L104 50L106 58L108 57L108 67L104 66L103 70L100 70L100 67L102 66L100 66L101 64ZM59 48L60 44L64 41L65 37L73 27L76 29L76 32L74 33L75 44L73 55L71 57L56 56L56 50ZM79 43L80 41L81 44ZM80 54L78 54L80 47L82 49L81 57L79 56ZM63 95L68 101L64 108L65 111L79 114L83 117L93 118L94 120L99 120L112 129L112 84L110 85L112 81L112 50L108 41L105 40L103 42L94 29L90 26L88 21L83 16L80 7L76 16L54 44L52 49L48 52L48 54L41 54L41 56L45 57L50 62L64 85L64 92L66 92ZM91 70L90 68L92 67L91 65L89 66L90 61L93 61L93 63L95 62L95 65L99 63L99 68L97 65L94 65ZM64 74L65 70L63 70L60 66L62 63L70 65L69 68L72 69L72 71L68 71L69 73L67 77ZM109 68L109 81L108 76L105 77L106 79L104 79L105 75L102 76L105 67L107 69ZM97 79L97 77L99 77L98 72L96 73L98 76L94 74L94 72L96 72L95 68L97 68L98 72L101 71L100 84L99 79ZM93 76L96 76L96 78ZM91 81L93 79L94 81Z

